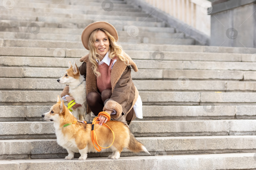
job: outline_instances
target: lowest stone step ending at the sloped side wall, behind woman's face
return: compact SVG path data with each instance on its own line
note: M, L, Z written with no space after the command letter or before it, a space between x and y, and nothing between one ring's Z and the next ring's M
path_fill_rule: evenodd
M119 36L120 42L128 43L171 43L171 44L194 44L195 40L191 38L184 38L183 34L171 34L168 40L162 37L146 37L148 35L138 35L136 37L131 37L124 32L124 36ZM81 41L80 35L63 35L63 34L31 34L26 32L0 32L1 38L24 38L24 39L47 39L47 40L74 40Z

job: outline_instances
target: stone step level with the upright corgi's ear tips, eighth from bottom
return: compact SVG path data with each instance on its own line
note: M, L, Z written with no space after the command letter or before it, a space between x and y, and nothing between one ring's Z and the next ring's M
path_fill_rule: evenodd
M31 67L64 67L67 68L69 61L79 59L59 57L13 57L0 56L0 66L31 66ZM154 59L134 59L138 69L176 69L176 70L241 70L256 71L253 62L224 62L224 61L164 61L157 62ZM162 61L162 60L161 60Z

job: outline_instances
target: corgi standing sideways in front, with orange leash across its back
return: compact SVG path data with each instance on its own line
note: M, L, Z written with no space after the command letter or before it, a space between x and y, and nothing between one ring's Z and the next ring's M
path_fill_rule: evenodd
M46 121L53 122L58 144L68 151L68 156L65 159L73 159L74 153L79 152L81 154L79 160L86 160L87 152L97 152L91 140L92 124L81 122L72 124L72 122L76 121L76 118L59 96L57 100L57 103L51 107L50 111L43 114L42 117ZM70 125L64 126L66 124ZM133 152L144 151L149 154L148 150L135 139L129 127L123 122L108 121L106 124L113 130L115 135L113 145L110 147L113 153L108 158L119 159L123 148L128 148ZM112 144L113 134L110 129L103 125L94 124L94 131L100 146L107 147Z

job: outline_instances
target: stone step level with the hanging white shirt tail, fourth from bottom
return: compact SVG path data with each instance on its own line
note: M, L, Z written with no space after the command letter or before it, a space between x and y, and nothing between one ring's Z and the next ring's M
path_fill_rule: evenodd
M44 121L41 114L50 110L52 105L44 106L0 106L0 122ZM154 110L154 111L152 111ZM15 114L14 114L15 113ZM214 105L201 106L143 106L143 119L136 120L224 120L255 119L254 105Z

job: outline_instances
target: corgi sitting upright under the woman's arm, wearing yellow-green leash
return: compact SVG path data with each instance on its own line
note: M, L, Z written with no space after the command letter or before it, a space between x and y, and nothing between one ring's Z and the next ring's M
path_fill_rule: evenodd
M69 93L75 99L75 102L81 104L81 107L76 109L72 108L73 115L78 120L91 120L91 114L86 114L86 88L85 88L85 79L80 75L79 70L76 66L71 65L71 62L68 63L69 69L66 70L63 77L59 78L57 81L61 84L69 85Z

